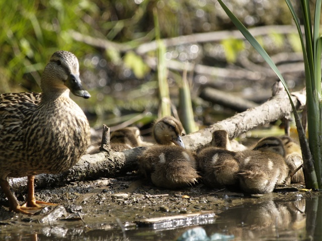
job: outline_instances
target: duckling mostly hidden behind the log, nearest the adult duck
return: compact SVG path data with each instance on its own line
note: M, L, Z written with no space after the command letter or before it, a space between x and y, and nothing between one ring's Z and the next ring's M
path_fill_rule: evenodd
M112 132L111 149L116 152L140 146L140 130L137 127L126 127Z

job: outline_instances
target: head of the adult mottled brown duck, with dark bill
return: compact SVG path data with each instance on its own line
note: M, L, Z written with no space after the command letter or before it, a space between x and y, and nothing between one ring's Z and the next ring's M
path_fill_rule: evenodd
M68 51L56 51L50 58L41 76L40 87L44 93L55 95L69 94L88 99L89 92L79 78L79 64L75 55Z

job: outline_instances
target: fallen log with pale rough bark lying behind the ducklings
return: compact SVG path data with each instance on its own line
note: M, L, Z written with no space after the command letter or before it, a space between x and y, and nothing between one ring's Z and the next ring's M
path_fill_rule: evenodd
M305 104L305 92L294 93L293 102L297 108ZM303 103L304 102L304 103ZM291 112L289 99L284 91L277 93L264 104L238 113L224 121L183 137L187 149L196 151L208 145L215 130L226 130L233 139L257 126L274 122L289 116ZM79 162L68 171L58 175L41 174L36 176L37 187L54 187L73 181L83 181L102 177L114 177L129 171L137 170L137 156L144 150L138 147L124 152L100 152L84 155ZM21 191L26 186L26 178L13 178L12 188Z

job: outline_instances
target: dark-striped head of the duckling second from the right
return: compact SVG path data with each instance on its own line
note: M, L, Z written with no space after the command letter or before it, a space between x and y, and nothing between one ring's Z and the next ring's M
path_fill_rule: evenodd
M277 137L266 137L261 139L253 150L262 152L274 152L285 157L285 149L281 139Z

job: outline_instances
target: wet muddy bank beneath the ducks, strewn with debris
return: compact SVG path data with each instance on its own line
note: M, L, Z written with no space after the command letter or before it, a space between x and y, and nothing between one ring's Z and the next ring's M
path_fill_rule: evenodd
M111 239L123 240L129 235L125 234L128 233L125 230L137 230L138 226L146 224L142 223L146 218L185 215L206 210L218 215L233 207L247 207L276 200L292 202L319 195L302 188L304 186L301 184L293 184L291 187L278 188L273 193L248 195L238 190L232 192L226 189L209 189L200 183L180 190L166 190L153 186L149 181L139 178L136 173L115 179L73 182L54 189L36 189L37 199L57 203L57 206L47 206L35 215L9 212L8 203L4 195L1 196L0 239L28 240L25 238L42 235L43 238L39 240L54 240L51 239L53 237L88 240L78 239L79 235L104 229L112 231ZM26 193L17 193L17 196L23 203ZM213 218L203 219L204 223L213 221ZM189 226L189 223L183 226ZM173 228L175 227L169 229ZM178 233L171 235L173 239Z

